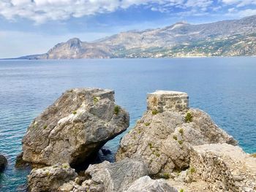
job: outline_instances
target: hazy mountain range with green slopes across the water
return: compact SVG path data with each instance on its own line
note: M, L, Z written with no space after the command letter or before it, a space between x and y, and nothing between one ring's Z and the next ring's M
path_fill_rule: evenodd
M256 55L256 15L240 20L127 31L94 42L69 39L23 59L170 58Z

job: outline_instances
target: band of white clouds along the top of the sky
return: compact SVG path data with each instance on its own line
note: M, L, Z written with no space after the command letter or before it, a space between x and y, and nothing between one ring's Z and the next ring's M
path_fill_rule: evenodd
M233 10L236 14L255 12L255 9L244 9L244 12L239 9L247 5L256 5L256 0L0 0L0 15L8 20L26 18L35 23L45 23L48 20L81 18L136 6L179 15L207 14L222 6L236 7Z

